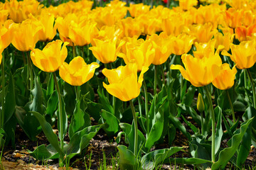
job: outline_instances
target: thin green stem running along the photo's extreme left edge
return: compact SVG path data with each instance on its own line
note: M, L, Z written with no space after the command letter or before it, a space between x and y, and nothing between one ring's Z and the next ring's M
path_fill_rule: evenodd
M2 86L2 95L1 95L1 105L2 105L2 110L1 110L1 119L0 119L0 128L4 128L4 94L5 94L5 91L4 91L4 78L5 78L5 75L4 75L4 52L2 52L2 61L1 61L1 86Z

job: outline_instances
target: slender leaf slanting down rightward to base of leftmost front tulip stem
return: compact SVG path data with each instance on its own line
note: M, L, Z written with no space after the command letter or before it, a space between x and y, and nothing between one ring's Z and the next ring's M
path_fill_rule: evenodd
M33 115L35 115L35 117L38 119L48 142L50 142L50 144L53 145L53 147L57 150L57 152L60 155L64 155L64 152L60 149L57 135L53 132L53 128L50 126L50 124L46 122L46 119L43 118L43 115L35 111L31 111L31 113L33 113Z

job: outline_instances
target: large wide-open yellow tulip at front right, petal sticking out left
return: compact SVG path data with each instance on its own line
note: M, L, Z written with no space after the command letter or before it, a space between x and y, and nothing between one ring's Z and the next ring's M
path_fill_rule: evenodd
M184 54L181 60L185 69L181 65L171 65L171 69L178 69L184 79L193 86L206 86L210 84L220 73L222 61L219 56L203 57L202 59Z

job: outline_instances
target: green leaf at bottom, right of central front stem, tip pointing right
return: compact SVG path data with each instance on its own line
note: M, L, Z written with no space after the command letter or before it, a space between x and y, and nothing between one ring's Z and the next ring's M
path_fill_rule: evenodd
M179 152L183 147L170 147L170 149L159 149L153 152L149 152L142 157L142 168L143 169L154 169L158 164L164 162L164 160L169 159L171 155Z

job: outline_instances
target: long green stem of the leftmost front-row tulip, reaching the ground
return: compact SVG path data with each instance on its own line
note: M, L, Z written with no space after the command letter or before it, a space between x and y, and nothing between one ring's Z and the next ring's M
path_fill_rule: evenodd
M60 88L58 86L58 81L57 81L55 72L53 72L53 79L54 79L54 83L55 83L55 88L56 88L57 93L58 93L58 107L59 107L58 124L60 125L60 129L59 129L60 149L63 150L63 147L64 147L64 137L63 137L62 100L61 100ZM62 163L63 163L63 155L60 155L60 164L62 164Z

